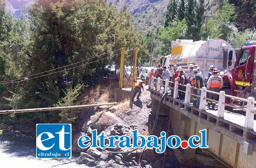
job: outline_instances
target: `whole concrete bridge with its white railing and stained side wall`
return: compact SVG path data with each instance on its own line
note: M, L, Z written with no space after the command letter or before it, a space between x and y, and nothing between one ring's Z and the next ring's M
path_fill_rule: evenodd
M190 103L190 97L197 95L193 94L190 84L183 86L186 87L185 100L176 99L178 91L182 91L178 90L178 85L177 82L173 83L168 80L165 85L162 85L160 78L152 80L150 88L152 112L156 112L161 97L166 94L161 104L160 115L171 113L171 127L175 135L180 136L182 140L187 140L192 135L200 136L199 130L207 129L207 145L209 146L207 152L213 157L230 168L256 168L255 98L241 99L226 95L224 91L212 92L219 95L219 100L217 101L218 108L210 110L206 107L206 100L209 100L206 93L211 92L210 90L200 89L201 95L198 96L200 105L195 107ZM225 103L226 97L238 99L246 106ZM227 106L239 109L246 115L226 111ZM196 149L178 148L175 150L175 155L181 162L189 162L197 159L196 152Z

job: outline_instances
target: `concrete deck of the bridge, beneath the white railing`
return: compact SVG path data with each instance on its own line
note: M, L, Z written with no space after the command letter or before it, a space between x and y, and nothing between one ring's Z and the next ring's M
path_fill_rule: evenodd
M163 96L163 89L160 91L150 90L151 94L158 97L158 100L161 99ZM170 95L169 91L169 95ZM209 109L206 107L206 110L199 110L199 107L194 106L192 103L184 103L184 100L180 99L173 99L172 96L167 95L165 100L163 101L164 104L172 107L177 108L182 114L193 118L195 120L200 119L201 123L204 123L203 120L206 121L205 125L208 125L209 122L212 124L213 127L220 126L221 128L228 129L234 134L235 136L239 136L240 143L243 143L244 138L249 138L252 141L256 141L256 120L254 120L254 128L253 129L246 129L244 128L245 116L242 114L237 114L234 112L230 112L225 110L224 117L217 117L217 108L215 110ZM173 105L174 104L174 105ZM217 103L218 105L218 103ZM176 106L176 107L175 107ZM250 135L247 137L248 133Z

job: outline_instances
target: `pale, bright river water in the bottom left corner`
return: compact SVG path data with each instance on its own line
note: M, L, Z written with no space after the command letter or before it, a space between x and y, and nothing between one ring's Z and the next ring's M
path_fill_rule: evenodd
M0 168L89 168L71 159L37 159L36 144L0 141Z

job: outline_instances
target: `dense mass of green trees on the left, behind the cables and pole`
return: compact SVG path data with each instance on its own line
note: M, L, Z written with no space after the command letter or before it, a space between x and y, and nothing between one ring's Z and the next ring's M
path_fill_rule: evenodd
M0 41L0 67L5 70L0 70L0 77L3 73L2 80L28 78L0 85L4 86L0 93L2 109L73 103L71 100L79 94L75 86L85 83L86 87L93 87L104 82L105 66L119 64L121 47L127 49L127 60L131 59L133 48L139 47L139 57L147 61L144 56L147 51L130 24L130 14L125 9L118 13L113 5L106 5L105 0L37 0L29 9L28 17L16 20L4 14L5 22L0 23L4 27L0 30L4 37ZM76 62L81 63L68 67L79 66L73 70L62 68ZM55 68L59 69L40 74L42 77L29 77ZM14 114L5 119L21 126L66 121L69 117L75 118L59 111Z

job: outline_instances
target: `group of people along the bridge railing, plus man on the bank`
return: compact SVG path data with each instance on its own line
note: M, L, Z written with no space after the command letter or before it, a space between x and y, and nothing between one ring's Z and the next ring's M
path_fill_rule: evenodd
M173 72L171 73L170 70L171 67L167 68L166 66L161 67L161 64L157 65L157 69L154 72L154 69L151 69L149 72L149 89L151 85L151 81L153 77L155 78L161 78L163 79L163 84L165 85L165 80L169 79L170 81L176 82L178 81L179 84L181 85L186 85L187 83L191 84L192 88L197 88L201 89L204 87L204 78L202 76L202 73L200 72L200 67L198 65L193 65L189 64L188 69L189 73L185 74L185 71L181 66L178 65L173 65ZM219 92L220 89L223 87L223 80L222 76L224 75L224 72L220 72L218 74L218 69L215 68L214 65L211 65L209 67L209 74L208 77L205 79L207 80L207 90L211 90L214 92ZM132 101L134 100L136 93L139 92L137 99L139 99L141 95L141 89L143 89L143 81L141 79L135 79L135 92L132 97ZM185 91L185 86L179 85L178 89ZM156 85L155 85L156 88ZM144 90L144 89L143 89ZM183 91L178 91L178 98L180 100L185 99L185 92ZM196 90L194 89L194 94L201 95L201 90ZM212 99L212 100L218 100L218 95L214 93L207 93L207 97ZM199 106L200 103L200 97L193 96L192 98L193 105ZM214 109L216 107L216 102L214 101L208 101L208 107L209 109L212 108Z

